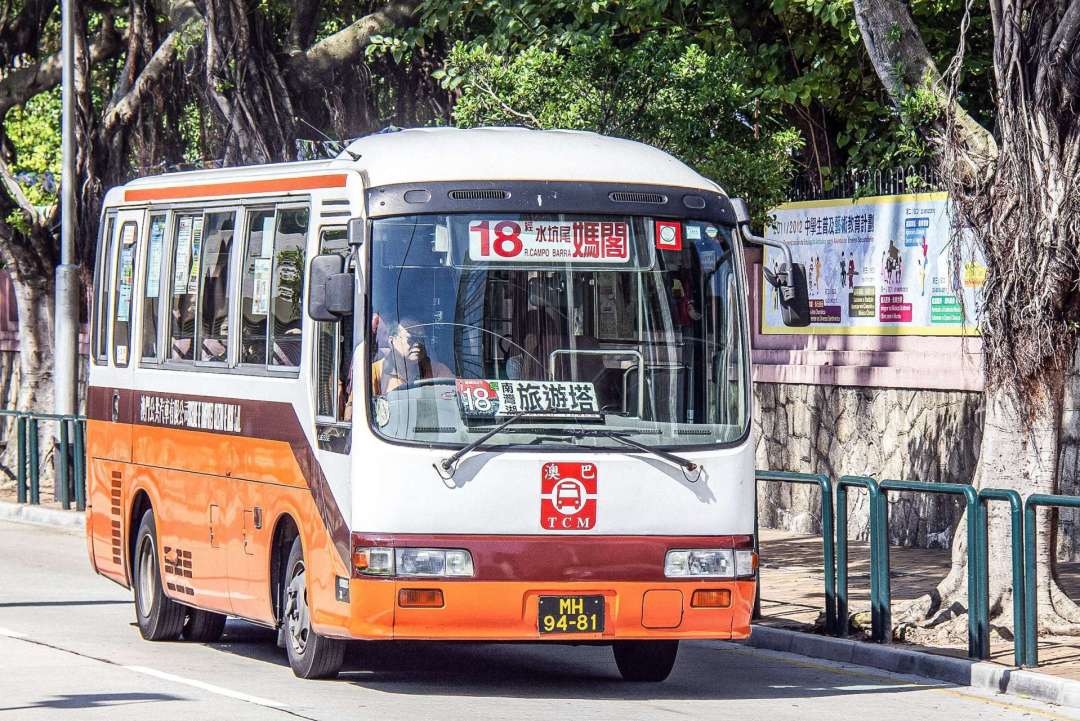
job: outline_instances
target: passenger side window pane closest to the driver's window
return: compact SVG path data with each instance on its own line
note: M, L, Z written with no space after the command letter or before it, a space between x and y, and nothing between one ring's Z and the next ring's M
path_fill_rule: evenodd
M270 365L300 365L302 326L303 256L308 237L308 209L289 208L278 214L273 242L273 291Z

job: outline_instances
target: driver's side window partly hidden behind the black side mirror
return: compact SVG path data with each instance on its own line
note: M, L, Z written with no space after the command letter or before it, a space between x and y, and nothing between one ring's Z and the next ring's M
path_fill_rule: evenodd
M346 229L324 228L319 237L319 251L338 253L347 257L349 239ZM339 453L349 451L348 426L351 420L351 394L354 387L351 360L351 319L339 323L316 323L315 413L319 447L323 450ZM359 391L360 386L356 385L355 389Z

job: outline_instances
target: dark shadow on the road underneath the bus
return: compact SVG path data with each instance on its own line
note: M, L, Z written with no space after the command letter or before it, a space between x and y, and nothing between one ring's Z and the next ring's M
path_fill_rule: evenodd
M211 648L281 666L292 675L274 631L229 620ZM842 670L765 655L741 647L684 642L663 683L622 681L605 645L357 641L339 683L390 694L508 698L745 699L896 693L919 685L867 671Z

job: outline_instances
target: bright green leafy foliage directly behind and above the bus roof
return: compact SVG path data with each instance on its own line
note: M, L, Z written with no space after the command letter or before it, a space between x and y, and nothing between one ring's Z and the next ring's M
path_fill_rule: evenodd
M453 117L460 126L588 130L647 142L747 198L759 214L783 198L801 142L794 128L753 124L745 58L706 53L677 32L509 55L458 43L437 76L459 92Z

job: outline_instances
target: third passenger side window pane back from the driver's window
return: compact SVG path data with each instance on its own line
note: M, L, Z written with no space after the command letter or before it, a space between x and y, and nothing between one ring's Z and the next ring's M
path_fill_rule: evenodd
M225 363L229 355L229 256L235 213L207 213L199 262L199 359Z

